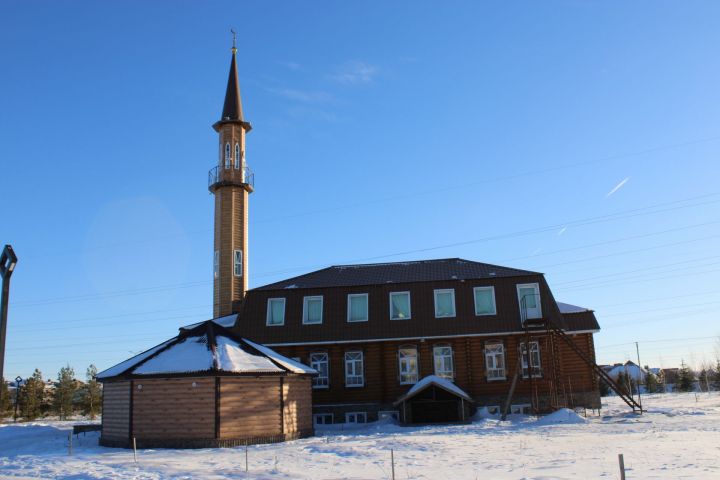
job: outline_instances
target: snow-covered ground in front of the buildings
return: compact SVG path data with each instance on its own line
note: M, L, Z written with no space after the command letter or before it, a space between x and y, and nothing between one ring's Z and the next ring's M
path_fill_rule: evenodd
M472 425L319 431L318 436L244 448L141 450L102 448L97 434L73 443L71 423L0 426L0 478L397 479L720 478L720 393L647 396L636 416L617 398L602 416L560 411Z

